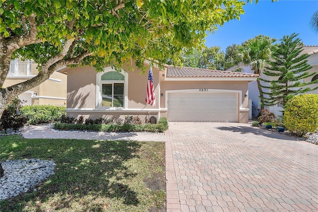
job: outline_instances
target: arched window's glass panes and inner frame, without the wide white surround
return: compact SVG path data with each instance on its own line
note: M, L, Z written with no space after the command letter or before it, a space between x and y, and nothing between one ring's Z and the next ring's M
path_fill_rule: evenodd
M124 82L125 76L116 71L101 75L101 107L124 107Z

